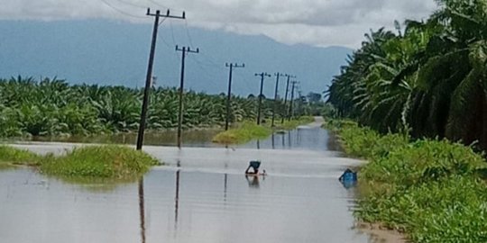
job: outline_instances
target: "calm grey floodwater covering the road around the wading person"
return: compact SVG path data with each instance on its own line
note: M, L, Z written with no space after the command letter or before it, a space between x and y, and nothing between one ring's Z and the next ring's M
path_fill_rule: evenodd
M133 184L0 170L0 242L392 242L354 229L354 190L336 178L361 162L328 150L326 130L289 134L260 149L146 146L167 165ZM17 146L60 153L75 145ZM252 159L268 175L245 177Z

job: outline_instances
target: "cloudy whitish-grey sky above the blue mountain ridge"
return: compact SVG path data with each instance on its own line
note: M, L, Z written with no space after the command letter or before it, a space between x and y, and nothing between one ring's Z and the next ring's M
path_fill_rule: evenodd
M358 48L363 34L394 20L422 20L434 0L2 0L0 20L112 19L151 23L146 8L186 12L175 24L265 35L284 44Z

